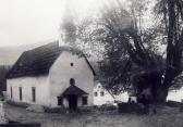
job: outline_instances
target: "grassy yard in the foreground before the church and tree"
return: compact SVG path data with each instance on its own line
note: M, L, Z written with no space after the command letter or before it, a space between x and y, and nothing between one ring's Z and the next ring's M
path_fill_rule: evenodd
M22 107L5 105L11 120L41 123L41 127L182 127L183 113L166 107L157 115L120 114L117 112L93 113L33 113Z

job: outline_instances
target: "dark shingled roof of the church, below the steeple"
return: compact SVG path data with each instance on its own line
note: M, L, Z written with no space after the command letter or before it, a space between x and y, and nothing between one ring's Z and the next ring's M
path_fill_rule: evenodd
M82 51L70 47L59 47L59 42L56 41L23 52L7 75L7 78L47 75L51 65L59 58L62 51L70 51L72 53L83 55L95 75L95 71Z

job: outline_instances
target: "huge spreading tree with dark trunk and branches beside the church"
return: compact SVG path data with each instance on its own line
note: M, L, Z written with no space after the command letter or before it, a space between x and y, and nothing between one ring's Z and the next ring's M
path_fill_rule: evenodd
M146 11L142 5L147 2L141 0L135 4L134 1L129 12L121 8L120 1L112 8L106 5L97 25L85 35L85 40L88 36L90 41L105 48L102 63L107 64L101 71L108 77L108 88L119 90L119 85L125 88L126 76L133 74L133 63L141 68L138 72L143 72L136 76L141 79L133 84L149 86L154 102L162 103L172 80L182 72L183 1L157 0L157 24L147 29L142 23L143 12ZM81 30L82 35L84 31ZM162 42L167 45L164 62L155 50Z

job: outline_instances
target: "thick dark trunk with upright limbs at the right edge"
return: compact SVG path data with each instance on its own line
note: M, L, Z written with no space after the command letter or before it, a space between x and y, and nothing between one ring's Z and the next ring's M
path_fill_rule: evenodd
M163 102L172 80L182 73L183 46L183 1L158 0L157 12L161 16L161 25L167 37L166 68L163 79L157 85L156 100Z

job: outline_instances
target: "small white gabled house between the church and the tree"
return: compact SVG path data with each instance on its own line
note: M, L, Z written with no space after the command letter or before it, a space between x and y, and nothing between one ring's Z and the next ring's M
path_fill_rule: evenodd
M100 82L94 87L94 105L114 104L115 101L127 102L127 92L123 92L119 96L111 94Z

